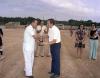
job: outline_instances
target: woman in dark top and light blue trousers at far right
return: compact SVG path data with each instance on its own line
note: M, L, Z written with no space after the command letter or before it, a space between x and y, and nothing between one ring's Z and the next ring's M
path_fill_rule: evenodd
M90 53L89 59L96 60L97 59L97 49L98 49L98 30L96 29L95 24L92 24L89 37L90 37Z

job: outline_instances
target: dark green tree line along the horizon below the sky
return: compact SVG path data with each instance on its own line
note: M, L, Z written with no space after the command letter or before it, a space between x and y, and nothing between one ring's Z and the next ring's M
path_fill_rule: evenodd
M5 25L8 22L20 22L21 25L30 24L31 21L35 19L34 17L0 17L0 25ZM43 20L44 24L46 24L47 20ZM56 24L64 24L71 26L79 26L80 24L84 24L85 26L91 26L91 24L96 24L96 26L100 26L100 23L93 22L92 20L74 20L70 19L68 21L56 21Z

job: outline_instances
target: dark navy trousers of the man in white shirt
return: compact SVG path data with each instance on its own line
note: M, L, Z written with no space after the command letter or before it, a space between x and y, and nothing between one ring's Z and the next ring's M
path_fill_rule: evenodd
M55 43L50 45L52 57L51 72L55 75L60 75L60 48L61 43Z

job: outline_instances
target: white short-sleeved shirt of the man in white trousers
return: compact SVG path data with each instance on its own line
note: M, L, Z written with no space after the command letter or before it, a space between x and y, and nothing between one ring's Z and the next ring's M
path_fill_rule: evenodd
M26 27L25 32L24 32L24 42L23 42L23 47L26 48L27 50L32 50L35 46L35 39L34 35L36 34L36 30L33 29L32 25L29 25Z

